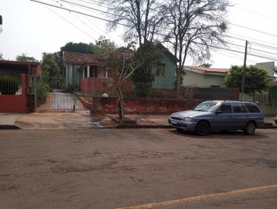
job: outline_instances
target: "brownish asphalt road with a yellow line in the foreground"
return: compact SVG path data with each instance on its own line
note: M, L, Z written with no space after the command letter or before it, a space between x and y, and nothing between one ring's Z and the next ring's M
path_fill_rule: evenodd
M0 208L130 206L277 208L277 130L0 130Z

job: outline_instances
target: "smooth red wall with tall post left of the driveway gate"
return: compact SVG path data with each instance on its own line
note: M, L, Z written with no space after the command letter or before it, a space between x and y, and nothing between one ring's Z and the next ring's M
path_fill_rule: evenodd
M21 95L0 95L0 111L24 112L29 111L27 97L28 75L21 75Z

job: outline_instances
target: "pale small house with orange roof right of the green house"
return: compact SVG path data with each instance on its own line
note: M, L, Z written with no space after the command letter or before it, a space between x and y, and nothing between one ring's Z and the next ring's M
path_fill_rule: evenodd
M223 87L223 78L229 69L214 69L202 66L184 66L183 86Z

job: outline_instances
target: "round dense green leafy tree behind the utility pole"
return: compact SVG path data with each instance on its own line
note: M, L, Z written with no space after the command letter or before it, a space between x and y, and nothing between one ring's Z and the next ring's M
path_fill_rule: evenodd
M230 88L242 88L242 71L243 66L231 66L231 70L224 78L224 84ZM245 72L245 93L253 93L255 91L267 91L270 87L270 78L265 69L256 66L247 66Z

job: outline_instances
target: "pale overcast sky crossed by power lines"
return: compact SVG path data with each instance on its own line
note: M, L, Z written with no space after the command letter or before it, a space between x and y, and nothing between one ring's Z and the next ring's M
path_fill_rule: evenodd
M57 3L57 0L39 0ZM78 0L74 0L76 3ZM94 2L96 0L86 0ZM61 3L61 2L60 2ZM277 2L273 0L230 0L229 29L227 35L240 38L227 39L231 44L225 48L212 51L211 64L215 68L230 68L231 65L243 65L245 40L249 40L249 53L277 60ZM88 4L103 10L102 6ZM64 5L65 6L65 5ZM77 7L66 6L74 10ZM104 17L101 12L82 10L97 17ZM0 33L0 53L6 60L15 60L17 55L26 53L30 57L42 60L42 53L60 51L67 42L95 42L100 35L111 39L117 46L126 46L122 40L123 28L107 30L106 21L77 15L73 12L44 6L29 0L0 0L0 15L3 16L3 31ZM264 33L258 33L239 26L244 26ZM269 34L265 34L269 33ZM263 44L267 46L260 46ZM263 52L262 52L263 51ZM272 60L248 55L247 64L272 62ZM186 65L198 64L188 60Z

